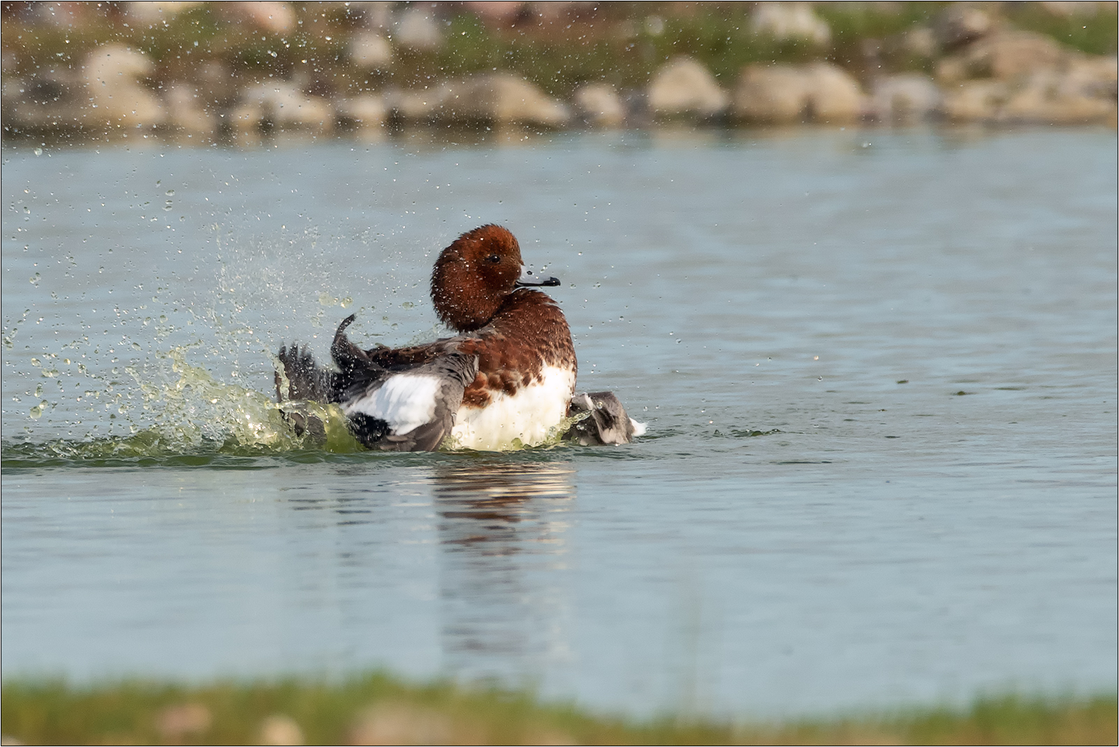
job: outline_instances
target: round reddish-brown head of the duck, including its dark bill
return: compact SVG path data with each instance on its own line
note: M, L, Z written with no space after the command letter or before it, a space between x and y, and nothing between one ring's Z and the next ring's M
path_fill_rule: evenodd
M483 225L443 250L431 273L431 300L448 327L472 332L489 324L506 297L523 286L558 286L525 268L508 230Z

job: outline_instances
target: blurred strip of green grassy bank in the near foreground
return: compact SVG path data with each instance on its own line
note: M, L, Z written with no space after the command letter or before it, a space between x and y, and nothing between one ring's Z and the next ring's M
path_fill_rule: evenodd
M4 744L1113 745L1116 695L981 698L783 723L633 721L524 693L415 685L384 674L187 687L125 681L78 688L7 679Z

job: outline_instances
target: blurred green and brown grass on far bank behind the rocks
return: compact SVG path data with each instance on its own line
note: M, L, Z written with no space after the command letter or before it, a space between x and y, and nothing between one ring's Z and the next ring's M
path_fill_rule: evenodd
M161 8L133 17L130 4ZM812 12L830 29L827 39L760 34L751 22L759 4L753 2L260 4L288 8L278 12L282 17L270 28L258 13L220 9L218 3L4 2L4 74L73 65L110 43L129 45L154 60L150 77L156 83L219 62L234 76L291 77L305 69L312 73L313 90L349 93L388 84L411 87L492 69L517 72L560 96L587 82L640 87L679 54L727 80L749 63L812 59L830 60L863 76L883 69L931 73L939 50L931 45L914 48L903 37L933 26L951 3L812 3ZM1116 54L1116 3L977 4L1017 28L1051 36L1074 49ZM1075 4L1084 8L1070 8ZM32 12L30 6L40 8ZM395 45L384 69L357 71L349 46L354 34L384 28L392 44L394 18L415 9L430 12L438 40L415 44L408 38ZM398 19L395 25L398 28Z

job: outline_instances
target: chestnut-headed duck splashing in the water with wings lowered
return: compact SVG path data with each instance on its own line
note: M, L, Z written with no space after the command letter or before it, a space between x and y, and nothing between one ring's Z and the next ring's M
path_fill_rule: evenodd
M330 345L335 368L307 346L280 348L276 400L298 433L323 426L307 402L337 404L363 446L434 451L505 450L556 435L581 445L628 443L643 432L611 392L575 393L579 364L567 319L539 288L560 280L526 267L509 230L487 224L444 249L431 274L435 314L452 337L361 349L346 335Z

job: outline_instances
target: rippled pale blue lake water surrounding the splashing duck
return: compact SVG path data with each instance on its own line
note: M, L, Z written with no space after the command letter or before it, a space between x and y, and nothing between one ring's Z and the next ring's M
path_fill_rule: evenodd
M1116 133L6 143L3 674L384 666L782 716L1116 688ZM508 226L623 447L301 443Z

